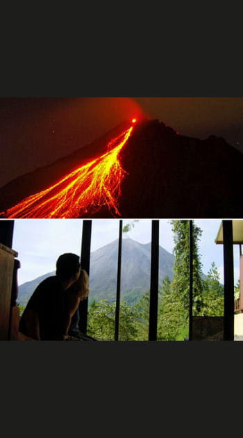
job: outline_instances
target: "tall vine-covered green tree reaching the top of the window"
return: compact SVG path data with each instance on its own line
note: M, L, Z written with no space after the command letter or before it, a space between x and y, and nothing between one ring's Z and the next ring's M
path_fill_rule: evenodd
M190 291L190 241L189 221L172 220L174 232L174 277L169 284L162 284L162 298L159 308L158 338L163 340L184 339L189 321ZM203 306L202 266L198 243L202 231L192 222L193 234L193 314L199 315Z

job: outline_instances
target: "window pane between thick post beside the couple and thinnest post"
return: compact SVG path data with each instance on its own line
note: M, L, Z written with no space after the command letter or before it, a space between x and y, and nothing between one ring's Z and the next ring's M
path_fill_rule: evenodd
M92 220L87 334L102 341L115 336L119 220Z

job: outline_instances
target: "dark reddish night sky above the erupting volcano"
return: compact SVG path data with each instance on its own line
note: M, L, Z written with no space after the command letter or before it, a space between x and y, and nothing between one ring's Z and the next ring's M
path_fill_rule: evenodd
M242 97L0 98L0 186L87 145L136 115L243 153Z

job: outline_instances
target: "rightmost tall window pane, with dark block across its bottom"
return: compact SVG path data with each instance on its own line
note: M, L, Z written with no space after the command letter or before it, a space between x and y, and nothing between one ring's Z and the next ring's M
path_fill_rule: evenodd
M215 243L221 220L194 220L201 282L193 284L193 339L220 341L224 336L224 245ZM196 283L196 284L195 284Z

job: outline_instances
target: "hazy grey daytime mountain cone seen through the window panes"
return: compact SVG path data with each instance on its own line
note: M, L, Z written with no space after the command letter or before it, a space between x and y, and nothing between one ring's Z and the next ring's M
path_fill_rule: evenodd
M94 298L115 300L117 284L118 240L100 248L90 259L90 290ZM151 243L142 244L124 238L121 253L121 298L143 295L150 287ZM159 281L173 277L174 256L160 247Z

